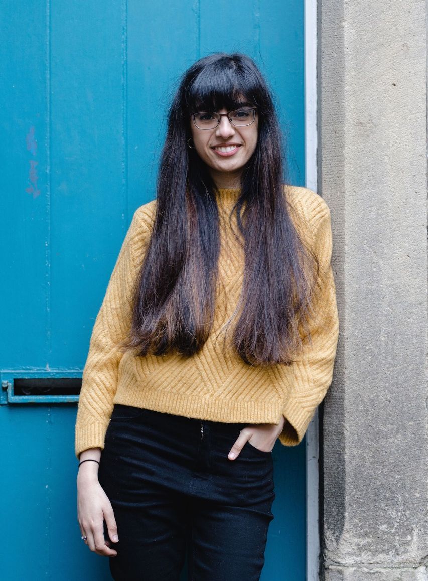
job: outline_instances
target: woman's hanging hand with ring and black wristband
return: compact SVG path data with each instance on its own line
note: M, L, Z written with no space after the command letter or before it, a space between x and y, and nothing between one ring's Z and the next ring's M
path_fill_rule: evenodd
M117 525L112 504L98 482L96 462L85 462L77 474L77 520L91 551L104 557L116 557L117 551L109 546L119 540ZM104 520L110 540L104 539Z

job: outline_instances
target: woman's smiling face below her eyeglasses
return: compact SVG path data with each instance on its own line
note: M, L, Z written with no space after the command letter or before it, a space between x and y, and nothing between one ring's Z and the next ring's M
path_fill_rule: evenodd
M228 111L221 109L217 113ZM245 127L235 127L229 118L224 116L214 129L198 129L193 120L190 120L190 128L196 152L210 168L217 187L239 187L242 168L253 155L257 145L257 112L254 122Z

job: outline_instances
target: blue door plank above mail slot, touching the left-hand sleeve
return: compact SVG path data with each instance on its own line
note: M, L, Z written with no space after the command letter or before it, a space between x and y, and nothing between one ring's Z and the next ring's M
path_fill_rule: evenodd
M123 6L51 7L51 361L82 367L128 227Z

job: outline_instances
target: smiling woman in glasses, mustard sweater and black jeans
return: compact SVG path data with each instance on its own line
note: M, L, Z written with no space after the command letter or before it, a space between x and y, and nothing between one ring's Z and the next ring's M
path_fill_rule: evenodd
M198 60L168 114L96 318L77 414L78 521L114 579L256 580L272 448L304 436L338 321L326 203L283 185L267 84ZM104 530L103 530L104 526Z

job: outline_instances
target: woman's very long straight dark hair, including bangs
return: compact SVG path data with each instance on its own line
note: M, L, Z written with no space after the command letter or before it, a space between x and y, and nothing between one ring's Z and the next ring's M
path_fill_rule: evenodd
M282 134L271 92L248 56L216 53L184 73L168 112L156 214L135 284L125 350L189 357L210 335L220 253L218 191L207 166L186 144L192 113L233 110L242 98L257 107L258 141L232 209L245 252L232 344L248 364L290 364L303 336L310 339L313 261L307 266L314 257L290 219Z

